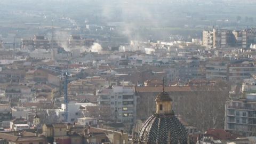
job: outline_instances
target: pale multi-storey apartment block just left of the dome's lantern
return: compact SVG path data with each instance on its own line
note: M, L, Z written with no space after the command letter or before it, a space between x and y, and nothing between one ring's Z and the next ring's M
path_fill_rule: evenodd
M111 107L117 122L133 124L136 119L137 99L133 86L113 86L97 92L99 105Z

